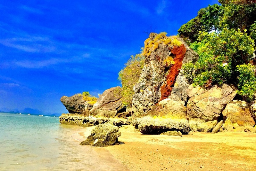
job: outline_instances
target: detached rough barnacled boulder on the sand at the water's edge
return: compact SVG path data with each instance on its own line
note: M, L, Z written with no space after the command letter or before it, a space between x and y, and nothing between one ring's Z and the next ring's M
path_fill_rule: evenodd
M119 144L118 137L121 135L119 128L111 124L97 125L80 145L91 145L96 147L105 147Z

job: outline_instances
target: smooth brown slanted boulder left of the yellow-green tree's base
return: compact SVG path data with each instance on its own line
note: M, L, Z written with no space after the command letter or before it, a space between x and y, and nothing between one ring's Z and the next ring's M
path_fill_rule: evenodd
M90 114L111 118L125 112L126 108L122 107L121 90L120 86L105 90L93 105Z

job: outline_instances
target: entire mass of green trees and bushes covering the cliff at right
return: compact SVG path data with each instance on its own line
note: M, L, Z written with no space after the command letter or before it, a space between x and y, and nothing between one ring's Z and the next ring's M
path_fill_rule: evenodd
M237 93L251 101L256 90L255 68L249 64L255 51L256 4L219 2L222 5L201 9L178 30L199 55L195 64L183 65L183 75L194 85L206 88L235 84Z

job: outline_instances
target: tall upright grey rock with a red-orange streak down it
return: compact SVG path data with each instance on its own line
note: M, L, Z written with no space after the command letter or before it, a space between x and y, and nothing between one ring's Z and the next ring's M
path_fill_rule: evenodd
M156 33L151 33L147 43L156 44L149 46L150 55L145 56L145 64L140 75L139 82L134 86L135 94L133 95L133 107L135 116L143 116L159 101L168 98L171 95L172 88L176 78L184 63L198 59L198 55L189 49L182 38L177 38L182 44L177 47L168 45L161 40L156 41L159 37ZM173 39L165 37L165 39ZM172 57L175 64L168 66L164 62L167 58ZM182 94L182 93L180 93ZM180 96L181 99L183 99ZM186 98L186 97L185 97Z

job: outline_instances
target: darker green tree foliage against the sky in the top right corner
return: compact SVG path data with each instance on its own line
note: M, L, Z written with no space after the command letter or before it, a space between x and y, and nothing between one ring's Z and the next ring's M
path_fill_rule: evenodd
M200 31L210 33L213 30L222 31L224 28L234 28L242 32L247 30L250 35L252 30L255 30L255 2L245 0L219 0L219 2L221 5L209 5L199 10L194 19L178 29L178 35L190 44L197 40ZM255 39L255 36L252 38Z

